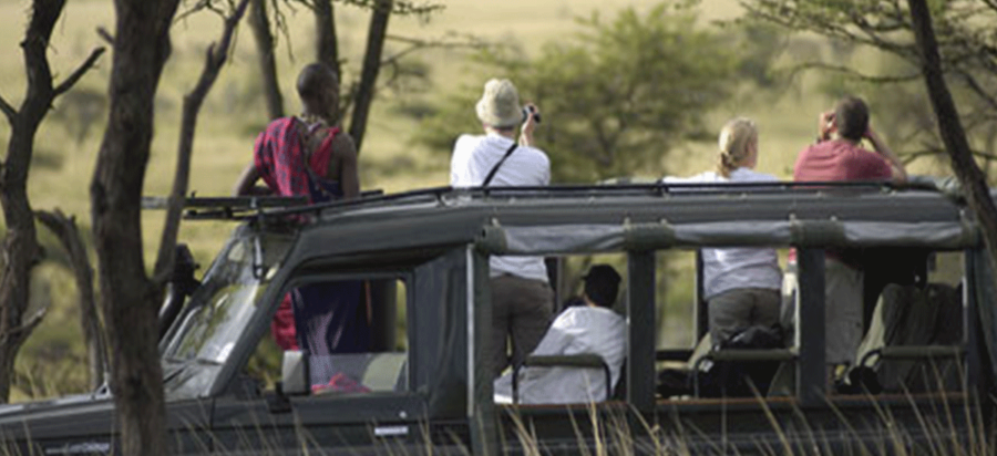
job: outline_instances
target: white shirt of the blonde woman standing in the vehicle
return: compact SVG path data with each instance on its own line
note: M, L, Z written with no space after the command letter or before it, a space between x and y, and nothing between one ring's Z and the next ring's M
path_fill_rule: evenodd
M775 176L749 168L738 168L723 177L713 172L692 177L665 177L666 184L778 182ZM703 298L710 299L739 288L782 289L782 269L775 249L726 248L702 249Z

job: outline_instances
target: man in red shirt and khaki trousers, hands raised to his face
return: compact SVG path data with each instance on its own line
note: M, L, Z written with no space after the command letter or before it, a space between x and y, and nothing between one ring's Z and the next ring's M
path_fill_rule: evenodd
M847 96L822 113L818 131L816 144L796 157L795 180L907 180L903 163L868 126L868 107L861 99ZM862 147L863 139L874 152ZM862 265L854 251L829 250L824 266L826 362L854 364L863 336Z

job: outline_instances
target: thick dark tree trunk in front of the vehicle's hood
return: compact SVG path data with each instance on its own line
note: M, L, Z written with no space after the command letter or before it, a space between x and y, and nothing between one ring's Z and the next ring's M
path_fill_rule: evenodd
M145 274L141 203L153 105L179 0L115 0L110 117L90 187L111 388L125 455L168 453L157 350L162 288Z

